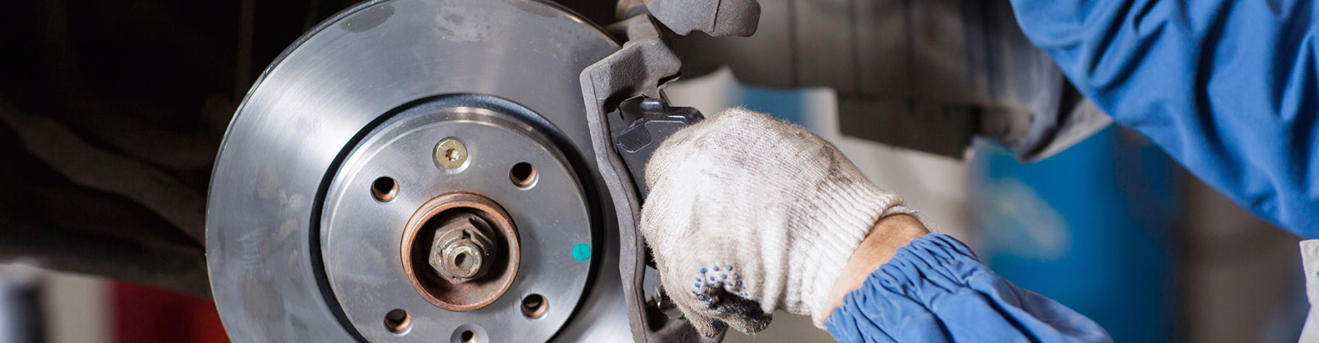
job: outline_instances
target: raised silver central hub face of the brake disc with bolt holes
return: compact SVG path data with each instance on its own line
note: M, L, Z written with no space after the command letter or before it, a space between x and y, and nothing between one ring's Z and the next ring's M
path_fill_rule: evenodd
M330 285L363 336L371 342L430 342L459 326L477 326L489 332L484 336L489 342L545 342L567 321L590 273L590 264L574 260L571 249L591 244L591 222L584 194L561 153L526 132L532 128L487 109L418 107L394 115L350 154L330 185L322 235ZM467 146L462 172L439 170L431 162L435 142L442 140ZM541 172L534 187L518 187L508 179L508 170L520 162ZM372 198L371 183L379 177L396 179L398 197L390 202ZM401 261L415 253L409 249L430 245L430 239L412 241L417 231L427 230L422 224L430 218L426 214L477 201L464 195L493 201L491 206L503 207L516 226L521 247L512 245L514 251L508 253L517 274L512 286L505 282L513 273L495 274L488 282L450 284L430 273L426 252L412 264ZM500 216L485 220L506 227L499 224L506 220ZM521 263L516 263L518 252ZM414 273L422 284L429 282L434 298L408 281ZM526 318L520 306L530 294L562 306ZM485 305L488 297L497 298ZM392 309L412 314L409 334L394 335L380 325Z

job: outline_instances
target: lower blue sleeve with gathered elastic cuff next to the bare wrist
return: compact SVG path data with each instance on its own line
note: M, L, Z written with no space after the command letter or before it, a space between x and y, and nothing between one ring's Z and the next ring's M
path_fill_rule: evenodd
M1009 284L942 234L900 248L824 325L839 342L1112 342L1089 318Z

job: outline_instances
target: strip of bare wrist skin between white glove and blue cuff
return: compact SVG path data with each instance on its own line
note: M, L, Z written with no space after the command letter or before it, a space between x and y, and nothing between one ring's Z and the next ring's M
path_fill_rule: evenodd
M906 214L885 216L876 222L871 234L865 235L861 244L856 247L856 252L847 260L843 273L834 281L834 288L819 318L828 319L834 309L843 305L847 294L861 288L865 278L888 263L898 248L926 234L930 234L930 230L915 216Z

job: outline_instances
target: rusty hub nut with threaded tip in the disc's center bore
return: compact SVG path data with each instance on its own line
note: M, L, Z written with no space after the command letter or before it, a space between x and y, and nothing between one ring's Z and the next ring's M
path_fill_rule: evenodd
M485 274L495 243L491 227L472 214L459 214L435 230L430 266L448 282L462 284Z

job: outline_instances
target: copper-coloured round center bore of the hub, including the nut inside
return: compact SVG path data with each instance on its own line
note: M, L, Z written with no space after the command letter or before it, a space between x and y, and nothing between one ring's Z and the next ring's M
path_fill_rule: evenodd
M404 230L408 281L426 301L451 311L495 302L517 274L517 228L495 201L475 193L430 199Z

